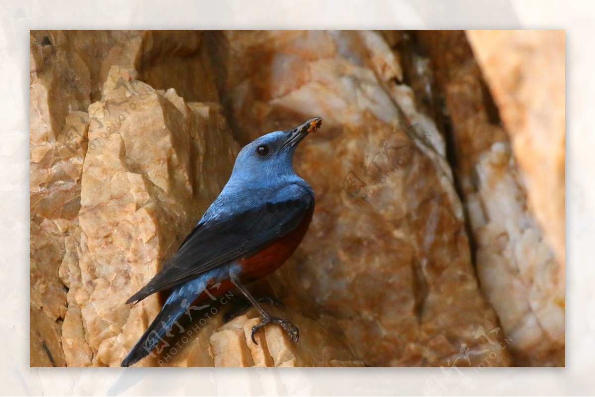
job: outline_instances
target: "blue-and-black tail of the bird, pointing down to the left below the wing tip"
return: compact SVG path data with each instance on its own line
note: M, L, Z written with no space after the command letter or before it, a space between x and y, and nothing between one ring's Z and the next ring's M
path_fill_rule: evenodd
M201 292L201 290L195 288L193 281L175 288L155 320L122 360L120 366L129 367L149 354L155 355L152 351L159 345L159 342L163 342L164 346L167 347L168 342L164 340L164 335L172 336L171 333L183 332L183 327L177 323L177 319L184 311L188 310L188 307Z

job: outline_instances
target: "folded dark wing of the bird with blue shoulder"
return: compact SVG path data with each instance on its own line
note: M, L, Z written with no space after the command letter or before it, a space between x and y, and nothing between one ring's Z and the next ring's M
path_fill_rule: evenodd
M255 203L250 209L196 225L164 268L127 303L196 278L292 232L314 206L314 197L294 184Z

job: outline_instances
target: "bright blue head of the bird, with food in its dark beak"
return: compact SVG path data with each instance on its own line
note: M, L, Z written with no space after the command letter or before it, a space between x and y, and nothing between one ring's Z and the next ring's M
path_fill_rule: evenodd
M293 153L297 144L320 128L322 118L311 118L297 127L274 131L256 138L240 150L230 181L259 181L274 184L295 176Z

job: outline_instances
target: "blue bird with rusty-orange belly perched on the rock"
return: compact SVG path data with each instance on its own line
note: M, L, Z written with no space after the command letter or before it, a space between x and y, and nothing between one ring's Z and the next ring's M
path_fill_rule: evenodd
M246 144L231 176L176 253L126 304L170 290L148 329L121 362L129 367L151 354L188 307L206 298L205 286L217 283L217 295L239 290L261 320L250 338L267 324L281 326L290 341L299 329L269 314L246 285L270 275L296 250L314 213L314 191L293 169L297 145L322 125L321 117L295 128L274 131ZM211 294L212 292L209 292ZM168 334L169 335L169 334Z

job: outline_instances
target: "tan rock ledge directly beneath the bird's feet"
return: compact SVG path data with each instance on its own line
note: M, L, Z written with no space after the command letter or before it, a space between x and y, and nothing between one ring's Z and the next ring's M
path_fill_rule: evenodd
M283 283L283 281L281 281ZM198 330L198 344L177 338L176 342L162 355L163 366L197 366L189 355L193 352L212 353L215 367L361 367L363 363L354 360L354 355L347 348L344 338L339 332L331 332L333 322L330 320L312 320L303 315L296 300L284 300L283 309L270 308L271 313L290 319L299 326L302 333L299 341L291 342L281 327L270 325L255 333L258 344L250 338L252 326L260 322L256 309L236 317L227 324L221 322L221 314L210 316L208 326ZM265 304L266 305L266 304ZM269 306L267 306L269 308ZM310 312L310 314L315 314ZM205 317L206 319L206 317ZM197 324L197 322L193 322ZM202 322L198 322L202 324ZM335 325L336 327L336 325ZM185 327L186 335L195 335L192 326ZM208 341L204 336L210 335ZM206 343L205 343L206 342ZM183 346L183 349L180 349ZM205 366L201 361L200 366Z

